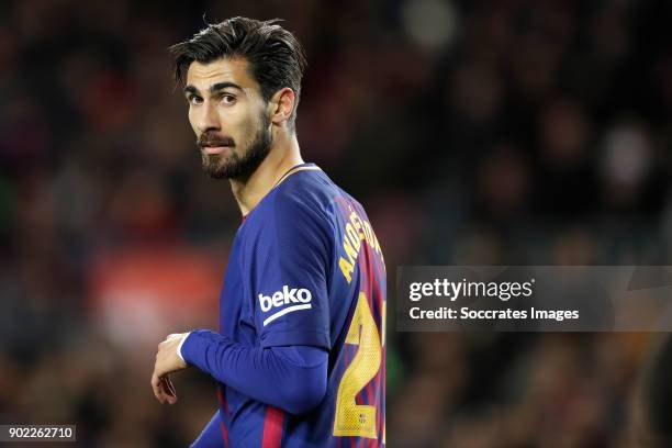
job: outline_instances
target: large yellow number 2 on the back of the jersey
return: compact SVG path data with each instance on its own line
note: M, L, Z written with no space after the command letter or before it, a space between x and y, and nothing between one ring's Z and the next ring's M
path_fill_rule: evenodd
M384 316L382 317L384 320ZM380 370L381 344L376 321L363 292L359 293L346 344L359 346L346 369L336 395L334 436L378 438L376 406L357 404L355 396Z

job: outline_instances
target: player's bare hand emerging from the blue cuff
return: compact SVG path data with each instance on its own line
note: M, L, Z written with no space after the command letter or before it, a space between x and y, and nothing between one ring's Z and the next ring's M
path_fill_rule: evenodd
M154 372L152 372L152 389L161 404L177 402L177 393L168 374L189 367L177 354L180 343L188 335L189 333L171 334L158 345Z

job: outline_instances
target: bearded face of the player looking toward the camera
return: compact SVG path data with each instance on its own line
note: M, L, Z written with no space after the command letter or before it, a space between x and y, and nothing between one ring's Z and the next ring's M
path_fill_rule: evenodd
M215 179L247 179L270 152L267 103L243 58L193 61L184 94L203 170Z

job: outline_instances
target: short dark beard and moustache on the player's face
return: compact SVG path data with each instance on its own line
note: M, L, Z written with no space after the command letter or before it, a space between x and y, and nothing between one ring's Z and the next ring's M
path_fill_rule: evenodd
M220 137L212 132L201 134L197 142L201 149L204 146L226 146L231 148L228 156L201 152L203 171L212 179L248 179L270 153L272 136L268 128L269 125L270 119L262 114L255 138L242 156L236 152L236 144L233 138Z

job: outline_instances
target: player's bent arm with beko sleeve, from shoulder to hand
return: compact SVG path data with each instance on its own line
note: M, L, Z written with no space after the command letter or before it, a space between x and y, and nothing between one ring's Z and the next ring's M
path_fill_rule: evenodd
M152 380L161 403L176 401L165 393L170 384L164 387L161 380L167 382L168 374L188 363L293 414L322 401L331 347L327 271L334 242L332 223L321 204L304 197L303 190L290 189L272 198L275 208L264 221L266 231L259 232L256 249L248 254L257 262L243 267L250 270L250 305L260 346L209 331L195 331L186 338L170 335L159 345ZM285 298L282 303L279 294ZM301 305L292 304L296 300ZM178 356L180 344L183 359Z

